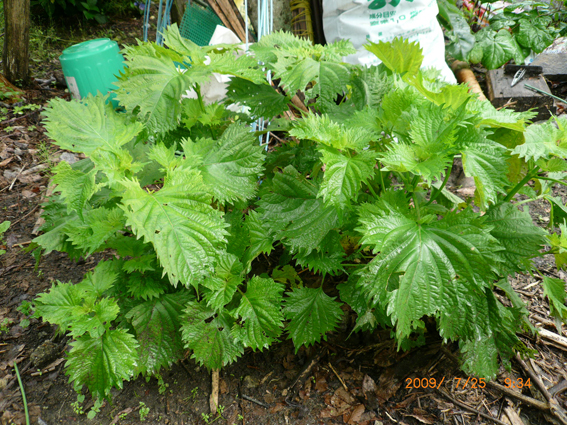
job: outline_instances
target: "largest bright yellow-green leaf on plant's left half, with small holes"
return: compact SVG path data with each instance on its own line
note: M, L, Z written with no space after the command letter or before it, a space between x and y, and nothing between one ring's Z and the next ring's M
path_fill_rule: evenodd
M153 244L172 285L196 285L212 271L226 243L226 223L211 207L201 176L177 170L157 192L142 189L135 180L124 180L123 185L126 224Z

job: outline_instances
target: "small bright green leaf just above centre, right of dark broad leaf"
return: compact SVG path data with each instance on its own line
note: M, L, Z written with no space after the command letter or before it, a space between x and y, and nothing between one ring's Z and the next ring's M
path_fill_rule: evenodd
M317 196L326 204L345 208L356 202L361 183L374 173L376 153L362 151L356 155L345 155L336 149L322 147L325 174Z

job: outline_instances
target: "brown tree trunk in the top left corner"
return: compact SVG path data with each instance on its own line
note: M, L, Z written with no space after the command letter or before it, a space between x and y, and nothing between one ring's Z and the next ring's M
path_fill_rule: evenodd
M29 79L30 0L4 0L4 52L2 63L8 81Z

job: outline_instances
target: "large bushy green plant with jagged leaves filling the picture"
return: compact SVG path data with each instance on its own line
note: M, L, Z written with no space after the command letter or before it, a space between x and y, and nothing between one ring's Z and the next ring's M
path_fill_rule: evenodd
M73 338L66 373L77 390L107 398L187 349L209 369L282 335L299 349L337 327L343 303L355 331L391 327L403 349L435 323L482 377L526 350L516 332L527 310L508 277L530 271L552 236L515 195L565 184L565 119L527 126L531 113L496 110L420 71L421 50L401 39L370 43L382 60L371 68L341 62L354 51L347 41L312 46L286 33L262 38L255 57L198 47L176 26L165 44L126 48L125 112L100 96L45 111L54 143L88 158L55 167L34 241L44 254L114 253L35 300ZM213 73L233 76L220 104L201 92ZM179 101L187 90L195 98ZM276 119L297 91L309 112ZM255 116L286 142L259 146ZM445 188L456 157L473 199ZM268 255L281 268L253 272ZM340 301L330 275L344 277ZM557 284L548 292L564 298Z

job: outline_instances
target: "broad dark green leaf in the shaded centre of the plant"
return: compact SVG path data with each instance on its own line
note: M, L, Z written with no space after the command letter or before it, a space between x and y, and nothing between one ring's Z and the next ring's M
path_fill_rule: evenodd
M317 198L318 191L315 184L288 166L274 176L271 191L258 203L266 226L292 252L308 254L338 226L335 209Z

